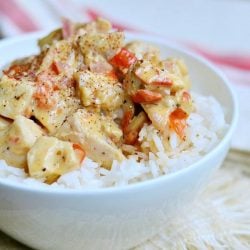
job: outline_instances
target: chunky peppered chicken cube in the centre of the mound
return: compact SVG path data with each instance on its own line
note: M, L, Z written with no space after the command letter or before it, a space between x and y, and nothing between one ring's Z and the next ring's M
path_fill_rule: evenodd
M111 111L124 101L122 85L112 76L82 71L75 74L77 89L83 106Z

